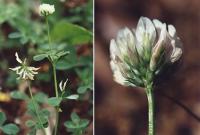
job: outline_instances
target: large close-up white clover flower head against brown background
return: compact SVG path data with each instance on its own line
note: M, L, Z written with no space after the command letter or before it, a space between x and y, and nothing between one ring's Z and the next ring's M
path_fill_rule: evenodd
M173 25L141 17L136 29L124 28L110 42L114 80L144 87L166 64L182 56L182 43Z

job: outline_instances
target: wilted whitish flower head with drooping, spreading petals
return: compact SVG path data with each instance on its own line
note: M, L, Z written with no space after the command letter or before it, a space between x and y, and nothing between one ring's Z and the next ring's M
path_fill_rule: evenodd
M20 66L17 66L15 68L9 68L9 69L11 69L12 71L15 71L16 74L19 75L17 79L34 80L34 75L38 74L37 70L39 68L27 66L26 59L22 61L19 58L17 52L15 53L15 57L16 57L17 62L20 64Z

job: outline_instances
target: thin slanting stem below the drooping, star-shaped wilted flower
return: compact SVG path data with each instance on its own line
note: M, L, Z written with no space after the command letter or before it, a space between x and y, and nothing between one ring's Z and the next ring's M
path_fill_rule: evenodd
M34 107L34 109L35 109L35 112L36 112L37 118L38 118L38 120L39 120L40 125L42 126L42 131L43 131L43 133L46 135L46 132L45 132L45 130L44 130L44 126L43 126L43 124L42 124L42 121L41 121L40 115L39 115L38 110L37 110L37 107L36 107L36 105L35 105L35 99L34 99L34 97L33 97L33 93L32 93L32 91L31 91L31 85L30 85L30 82L27 82L27 84L28 84L29 93L30 93L30 96L31 96L31 100L32 100L33 107Z

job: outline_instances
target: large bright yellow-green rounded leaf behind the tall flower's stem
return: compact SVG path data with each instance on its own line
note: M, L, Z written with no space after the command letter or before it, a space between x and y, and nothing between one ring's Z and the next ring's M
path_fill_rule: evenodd
M66 20L62 20L54 26L51 37L54 42L67 41L72 45L92 42L92 33L90 31Z

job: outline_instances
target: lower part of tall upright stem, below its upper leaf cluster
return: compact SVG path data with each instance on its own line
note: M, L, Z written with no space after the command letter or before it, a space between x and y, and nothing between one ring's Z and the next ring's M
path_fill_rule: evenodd
M55 93L56 93L56 97L58 98L58 86L57 86L57 76L56 76L56 66L53 63L53 77L54 77L54 89L55 89ZM57 134L57 130L58 130L58 122L59 122L59 108L56 107L56 124L55 124L55 128L54 128L54 135Z

